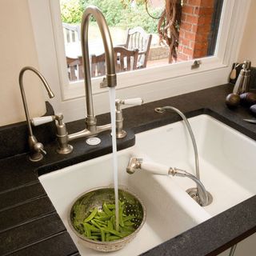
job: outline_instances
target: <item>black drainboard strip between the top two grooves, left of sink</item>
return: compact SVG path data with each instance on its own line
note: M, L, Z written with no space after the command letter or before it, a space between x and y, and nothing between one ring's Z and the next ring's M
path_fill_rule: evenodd
M0 194L0 211L10 206L42 197L42 195L46 195L46 192L40 182L9 190L6 193Z

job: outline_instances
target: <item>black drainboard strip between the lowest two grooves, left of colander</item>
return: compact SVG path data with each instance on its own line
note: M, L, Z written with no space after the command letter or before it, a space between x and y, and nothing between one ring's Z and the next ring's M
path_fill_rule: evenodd
M62 224L58 214L51 214L44 218L39 218L34 222L28 222L22 226L7 230L6 232L0 233L0 255L22 249L24 246L42 241L65 230L66 228Z

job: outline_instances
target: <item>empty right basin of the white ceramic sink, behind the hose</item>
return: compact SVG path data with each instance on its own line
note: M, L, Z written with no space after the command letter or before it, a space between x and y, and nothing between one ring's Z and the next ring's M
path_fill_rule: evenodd
M214 216L256 194L256 142L206 114L189 119L198 145L201 180L214 201L203 207ZM136 135L144 158L195 174L194 150L184 122ZM189 178L173 177L183 190Z

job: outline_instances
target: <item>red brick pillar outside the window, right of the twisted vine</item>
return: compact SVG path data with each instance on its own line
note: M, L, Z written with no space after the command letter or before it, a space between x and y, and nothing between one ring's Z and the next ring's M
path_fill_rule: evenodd
M183 0L178 61L207 55L214 0Z

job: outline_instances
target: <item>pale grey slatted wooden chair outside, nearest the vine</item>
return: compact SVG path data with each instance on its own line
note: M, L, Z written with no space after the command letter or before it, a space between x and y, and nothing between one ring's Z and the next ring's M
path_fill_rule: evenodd
M127 30L126 44L124 46L129 50L138 49L138 68L146 67L151 40L152 34L147 34L141 26Z

